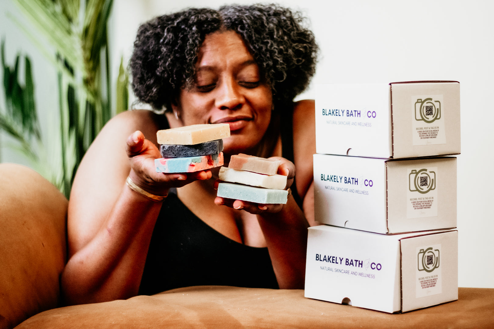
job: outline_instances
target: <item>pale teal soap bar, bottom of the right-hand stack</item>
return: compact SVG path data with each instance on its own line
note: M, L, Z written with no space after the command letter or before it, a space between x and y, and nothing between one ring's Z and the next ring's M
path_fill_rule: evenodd
M216 194L222 198L244 200L255 203L287 203L288 191L233 183L219 183Z

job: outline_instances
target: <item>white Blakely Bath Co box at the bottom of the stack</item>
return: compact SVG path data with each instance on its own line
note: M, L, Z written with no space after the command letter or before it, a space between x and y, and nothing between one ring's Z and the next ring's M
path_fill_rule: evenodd
M458 299L458 232L309 228L305 297L393 313Z

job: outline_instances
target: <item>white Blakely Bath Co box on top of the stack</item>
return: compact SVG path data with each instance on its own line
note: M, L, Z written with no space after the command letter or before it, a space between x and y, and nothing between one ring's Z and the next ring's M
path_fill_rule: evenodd
M316 85L316 152L381 158L460 153L457 81Z

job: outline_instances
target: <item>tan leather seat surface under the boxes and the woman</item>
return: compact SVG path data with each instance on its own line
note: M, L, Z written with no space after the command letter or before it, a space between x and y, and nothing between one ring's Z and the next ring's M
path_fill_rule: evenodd
M457 301L388 314L303 290L201 286L54 309L17 328L494 328L494 289L459 288Z

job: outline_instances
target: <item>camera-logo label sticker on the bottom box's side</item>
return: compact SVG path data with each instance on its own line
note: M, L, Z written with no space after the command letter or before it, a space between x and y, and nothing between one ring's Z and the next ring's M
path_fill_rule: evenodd
M441 245L425 246L416 249L417 270L415 297L425 297L442 293Z

